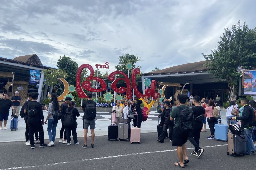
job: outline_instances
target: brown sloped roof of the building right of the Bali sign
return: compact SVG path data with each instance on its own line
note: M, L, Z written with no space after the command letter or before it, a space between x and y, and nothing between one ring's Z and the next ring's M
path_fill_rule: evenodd
M204 66L206 64L205 61L199 61L194 63L187 63L182 65L177 65L173 67L169 67L166 69L158 70L158 71L152 71L146 74L160 74L160 73L183 73L183 72L198 72L198 71L206 71L207 68Z

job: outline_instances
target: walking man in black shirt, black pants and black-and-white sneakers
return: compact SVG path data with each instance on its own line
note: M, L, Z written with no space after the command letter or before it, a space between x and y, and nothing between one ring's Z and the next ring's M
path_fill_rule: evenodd
M200 132L203 126L203 119L205 117L205 110L200 104L200 97L194 96L193 104L195 105L191 109L193 110L194 114L194 121L193 121L193 130L190 132L188 140L195 146L195 151L191 152L192 155L197 156L199 158L204 149L199 147L199 140L200 140Z

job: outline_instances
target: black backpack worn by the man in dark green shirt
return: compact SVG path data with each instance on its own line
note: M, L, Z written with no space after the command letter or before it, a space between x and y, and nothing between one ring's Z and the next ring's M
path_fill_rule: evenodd
M188 106L183 110L181 106L178 106L178 109L180 110L179 122L181 129L183 130L183 132L189 133L193 129L193 112L189 110Z

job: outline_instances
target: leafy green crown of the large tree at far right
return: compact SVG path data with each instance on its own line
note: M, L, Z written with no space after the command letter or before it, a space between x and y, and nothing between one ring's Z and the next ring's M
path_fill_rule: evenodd
M240 21L237 26L232 25L231 30L227 27L220 37L217 49L211 53L202 53L208 72L220 81L224 79L229 87L235 85L237 89L240 78L237 66L252 69L256 65L256 27L251 30L245 23L241 26Z

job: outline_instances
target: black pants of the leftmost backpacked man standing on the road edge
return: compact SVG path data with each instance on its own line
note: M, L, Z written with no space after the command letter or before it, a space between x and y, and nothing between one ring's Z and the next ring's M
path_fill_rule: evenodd
M36 122L36 123L28 123L29 127L29 140L31 146L35 144L34 142L34 133L35 131L39 132L39 141L40 144L44 144L44 129L42 122Z

